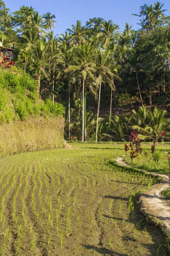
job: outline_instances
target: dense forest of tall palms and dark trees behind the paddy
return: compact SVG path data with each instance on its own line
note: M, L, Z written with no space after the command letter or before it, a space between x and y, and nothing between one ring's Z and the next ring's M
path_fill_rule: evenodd
M168 108L170 17L163 6L158 1L141 6L135 14L140 18L138 30L126 23L121 32L112 20L94 17L85 26L78 20L57 38L51 30L54 14L40 15L27 6L10 13L0 0L0 41L15 49L16 66L37 80L39 97L53 104L68 101L66 138L84 141L91 135L97 141L103 134L116 134L122 140L130 119L118 108ZM12 68L8 66L3 68ZM109 111L104 122L101 107ZM52 105L49 108L54 111Z

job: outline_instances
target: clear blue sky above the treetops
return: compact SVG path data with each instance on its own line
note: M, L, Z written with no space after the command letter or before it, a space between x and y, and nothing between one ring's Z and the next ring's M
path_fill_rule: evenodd
M161 1L164 3L166 15L170 15L170 0ZM76 24L77 20L82 21L82 25L89 18L102 17L106 20L113 20L117 23L121 30L125 28L125 23L133 25L138 23L138 17L131 15L139 13L140 6L144 3L153 4L156 0L4 0L6 7L11 12L20 9L20 6L32 6L40 14L51 12L56 15L55 34L65 32L67 28L71 28L72 24Z

